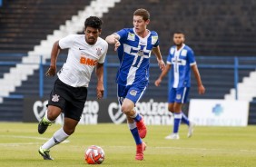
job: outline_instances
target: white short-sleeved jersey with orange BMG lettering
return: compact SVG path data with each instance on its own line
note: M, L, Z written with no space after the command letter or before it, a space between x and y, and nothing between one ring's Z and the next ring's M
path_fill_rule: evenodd
M98 37L94 45L85 42L84 34L71 34L59 41L61 49L69 48L66 62L58 72L59 79L73 87L88 87L96 64L103 64L108 44Z

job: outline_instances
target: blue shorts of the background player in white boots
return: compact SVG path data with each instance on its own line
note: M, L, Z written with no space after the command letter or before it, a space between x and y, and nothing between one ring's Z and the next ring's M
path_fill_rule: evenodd
M168 103L187 103L190 87L171 88Z

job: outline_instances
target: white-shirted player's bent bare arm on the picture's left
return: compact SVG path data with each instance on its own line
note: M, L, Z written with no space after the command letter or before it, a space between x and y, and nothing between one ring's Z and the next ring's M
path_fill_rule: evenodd
M52 48L51 64L48 71L46 72L46 76L54 76L56 74L56 71L57 71L56 63L57 63L57 57L60 53L60 50L61 48L59 46L59 41L56 41Z

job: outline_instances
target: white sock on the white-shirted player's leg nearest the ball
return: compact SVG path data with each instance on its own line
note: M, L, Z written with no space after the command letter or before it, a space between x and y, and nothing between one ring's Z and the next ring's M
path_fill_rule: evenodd
M51 139L49 139L47 142L44 143L44 145L42 145L42 148L48 150L52 148L54 145L57 145L60 142L64 142L64 140L67 139L68 137L69 135L64 133L64 129L61 128L54 133L54 136Z

